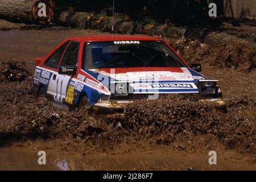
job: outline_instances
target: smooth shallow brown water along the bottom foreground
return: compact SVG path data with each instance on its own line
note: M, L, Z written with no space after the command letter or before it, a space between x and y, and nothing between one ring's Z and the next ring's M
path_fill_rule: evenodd
M192 155L185 152L167 151L137 154L67 155L46 150L46 165L38 164L40 147L0 148L1 170L255 170L255 164L245 156L233 152L220 153L217 165L209 165L208 154ZM165 151L165 152L163 152ZM233 156L233 157L232 157Z

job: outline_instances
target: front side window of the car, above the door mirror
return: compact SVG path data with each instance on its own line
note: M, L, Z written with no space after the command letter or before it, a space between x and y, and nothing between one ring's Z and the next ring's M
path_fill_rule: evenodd
M63 55L60 65L62 67L77 67L78 55L79 43L71 42Z

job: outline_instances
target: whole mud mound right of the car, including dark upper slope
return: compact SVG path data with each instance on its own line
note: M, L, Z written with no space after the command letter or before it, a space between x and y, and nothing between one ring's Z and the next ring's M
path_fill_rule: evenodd
M189 26L184 37L167 39L188 63L250 72L256 68L256 23L249 20L220 20Z

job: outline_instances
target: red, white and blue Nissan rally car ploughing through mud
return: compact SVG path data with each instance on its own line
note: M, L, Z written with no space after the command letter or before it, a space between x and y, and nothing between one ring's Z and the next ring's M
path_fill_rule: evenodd
M218 80L201 75L200 64L188 65L166 42L150 36L68 38L35 61L31 92L71 107L121 113L126 104L158 94L225 105Z

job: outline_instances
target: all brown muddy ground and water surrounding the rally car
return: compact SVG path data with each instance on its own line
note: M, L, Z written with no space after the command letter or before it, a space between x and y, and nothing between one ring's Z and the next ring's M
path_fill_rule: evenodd
M61 27L0 32L0 169L256 169L255 69L199 60L205 76L220 80L226 111L167 97L131 104L119 121L83 109L66 113L31 96L34 57L69 36L99 33ZM37 163L40 150L47 152L46 166ZM211 150L216 166L208 164Z

